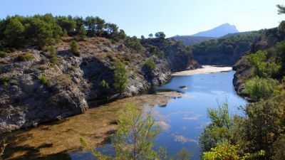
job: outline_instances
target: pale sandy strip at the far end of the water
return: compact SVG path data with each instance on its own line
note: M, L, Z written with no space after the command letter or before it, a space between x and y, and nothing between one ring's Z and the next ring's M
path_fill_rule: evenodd
M221 73L232 70L232 67L219 67L215 65L202 65L202 68L195 70L184 70L177 73L172 73L172 75L198 75L198 74L209 74L209 73Z

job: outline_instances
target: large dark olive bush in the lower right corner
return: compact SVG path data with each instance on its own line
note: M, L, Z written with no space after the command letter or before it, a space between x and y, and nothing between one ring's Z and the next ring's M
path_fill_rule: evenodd
M248 151L266 152L266 158L280 154L280 149L284 149L281 134L284 133L284 108L285 92L269 100L249 103L244 108L244 117L240 125L240 137L242 144ZM276 149L278 145L278 149ZM284 157L284 156L283 156Z

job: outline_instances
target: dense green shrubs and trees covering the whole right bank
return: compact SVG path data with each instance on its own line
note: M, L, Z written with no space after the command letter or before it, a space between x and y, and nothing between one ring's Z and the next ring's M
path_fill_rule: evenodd
M200 137L203 159L285 159L284 29L282 21L265 30L242 58L252 70L244 87L251 102L240 108L244 116L229 115L227 103L208 110L212 123Z

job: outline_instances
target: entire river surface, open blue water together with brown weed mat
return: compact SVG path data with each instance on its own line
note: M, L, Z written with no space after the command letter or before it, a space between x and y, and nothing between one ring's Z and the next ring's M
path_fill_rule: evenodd
M149 110L162 127L157 147L164 146L169 154L185 147L192 152L193 159L199 159L199 134L209 124L207 107L217 107L217 100L227 99L229 110L234 114L239 105L246 104L234 91L233 75L234 71L175 76L167 85L152 90L155 95L118 100L66 118L63 122L6 134L6 138L11 137L11 144L5 156L10 159L90 159L89 153L78 150L81 136L93 146L107 142L98 150L111 154L108 137L116 128L116 112L125 102L133 102ZM161 92L170 90L178 92Z

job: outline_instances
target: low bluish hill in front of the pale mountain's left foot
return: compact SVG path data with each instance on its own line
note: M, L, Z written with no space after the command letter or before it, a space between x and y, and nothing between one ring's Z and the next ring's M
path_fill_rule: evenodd
M200 36L174 36L172 37L175 41L182 41L185 45L193 45L197 43L201 43L203 41L207 41L210 39L215 39L213 37L200 37Z

